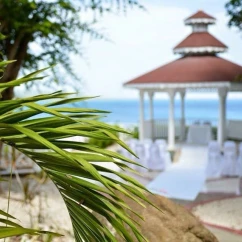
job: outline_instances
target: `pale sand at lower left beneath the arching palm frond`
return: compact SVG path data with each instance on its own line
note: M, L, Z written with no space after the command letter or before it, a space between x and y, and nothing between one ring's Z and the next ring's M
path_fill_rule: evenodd
M43 192L45 190L45 192ZM5 194L6 195L6 194ZM41 195L35 195L31 204L23 202L21 192L11 193L9 213L16 217L22 226L41 230L49 230L65 235L65 237L55 238L55 242L73 242L72 226L65 204L51 182L45 184ZM0 198L0 209L7 211L7 198ZM2 242L3 240L0 240ZM6 240L7 242L8 240ZM9 239L9 241L16 241ZM33 242L39 240L23 240Z

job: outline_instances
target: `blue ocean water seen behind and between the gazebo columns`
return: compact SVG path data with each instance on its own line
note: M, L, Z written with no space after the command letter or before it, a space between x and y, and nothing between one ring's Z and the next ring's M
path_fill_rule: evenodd
M139 100L94 99L79 103L78 106L110 111L103 121L117 124L137 124L139 121ZM154 118L168 119L169 101L154 100ZM186 123L210 121L216 125L219 116L219 101L216 99L185 100ZM149 101L145 100L145 117L149 119ZM180 100L175 100L175 118L181 117ZM227 119L242 120L242 99L227 100Z

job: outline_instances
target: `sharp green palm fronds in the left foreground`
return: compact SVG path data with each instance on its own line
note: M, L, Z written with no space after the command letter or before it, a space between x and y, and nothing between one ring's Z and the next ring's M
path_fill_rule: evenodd
M0 68L7 64L8 62L1 62ZM37 75L42 71L44 69L18 80L1 83L0 92L10 86L41 80L43 77ZM132 241L126 226L131 228L138 241L146 241L137 223L125 213L129 207L116 193L124 194L144 206L142 201L147 201L146 189L123 172L131 170L129 164L135 162L96 145L70 140L73 136L114 140L133 154L114 134L127 133L125 130L97 121L100 115L107 112L63 106L86 99L88 97L77 98L71 93L54 92L1 101L0 140L31 158L54 182L68 209L77 242L117 241L115 235L93 215L93 212L106 218L116 233L126 241ZM40 104L43 101L45 104ZM121 172L103 166L104 162L116 164L121 168ZM110 173L119 179L112 178ZM1 223L7 224L7 227L0 227L0 238L41 233L20 227L9 219L13 217L6 212L0 210L0 215L7 217L0 219Z

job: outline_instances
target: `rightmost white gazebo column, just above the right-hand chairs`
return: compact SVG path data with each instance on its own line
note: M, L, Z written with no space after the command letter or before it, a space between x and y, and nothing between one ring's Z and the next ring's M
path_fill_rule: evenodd
M218 89L219 94L219 123L218 123L218 142L220 148L223 148L223 143L226 138L226 98L228 89L221 87Z

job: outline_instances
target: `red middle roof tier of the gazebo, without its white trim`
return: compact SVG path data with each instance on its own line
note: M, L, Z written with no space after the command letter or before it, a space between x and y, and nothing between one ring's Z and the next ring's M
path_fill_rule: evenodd
M205 47L205 46L227 48L225 44L223 44L221 41L216 39L213 35L209 34L208 32L196 32L196 33L191 33L174 49L185 48L185 47Z

